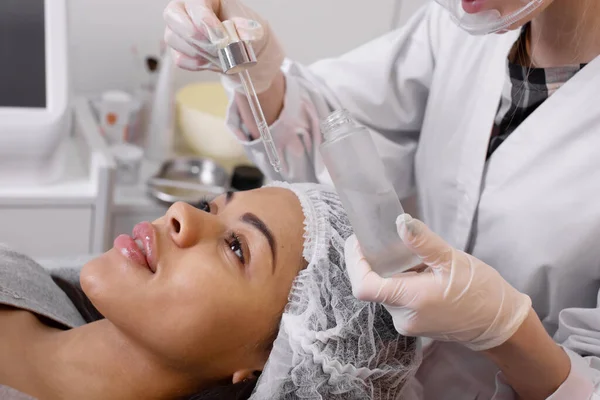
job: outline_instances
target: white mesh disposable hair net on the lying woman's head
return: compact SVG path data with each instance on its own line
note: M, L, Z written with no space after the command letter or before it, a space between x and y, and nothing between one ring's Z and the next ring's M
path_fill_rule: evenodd
M400 335L378 304L357 300L344 262L352 234L335 192L274 183L304 212L304 259L271 355L251 399L399 399L421 361L415 338Z

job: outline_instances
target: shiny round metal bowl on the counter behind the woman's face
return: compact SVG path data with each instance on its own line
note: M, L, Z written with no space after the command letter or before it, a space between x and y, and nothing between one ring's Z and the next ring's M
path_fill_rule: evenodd
M165 161L146 185L148 193L163 203L199 204L225 193L230 182L230 175L216 162L207 158L181 157Z

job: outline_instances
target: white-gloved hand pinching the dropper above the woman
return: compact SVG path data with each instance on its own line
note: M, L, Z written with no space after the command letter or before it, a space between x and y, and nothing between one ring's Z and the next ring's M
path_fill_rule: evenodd
M222 72L217 50L227 38L221 21L233 21L240 39L252 42L258 60L249 69L258 93L270 86L284 53L269 24L238 0L171 0L164 11L165 42L174 50L175 63L187 70ZM237 74L226 75L242 91Z

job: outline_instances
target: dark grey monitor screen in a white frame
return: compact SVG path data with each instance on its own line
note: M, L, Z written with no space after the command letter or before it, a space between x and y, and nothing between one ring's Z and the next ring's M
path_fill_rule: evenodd
M0 0L0 107L46 107L45 0Z

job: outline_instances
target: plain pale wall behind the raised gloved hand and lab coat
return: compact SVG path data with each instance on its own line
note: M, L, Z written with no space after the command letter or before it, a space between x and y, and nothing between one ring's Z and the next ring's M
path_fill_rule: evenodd
M397 0L246 0L267 18L287 54L309 63L343 53L390 30ZM399 23L428 0L401 0ZM69 0L71 73L77 93L131 89L132 46L156 54L168 0ZM376 5L374 5L376 4ZM177 85L215 79L178 71Z

